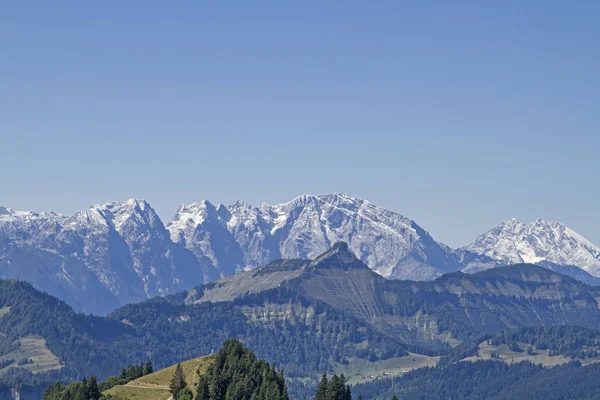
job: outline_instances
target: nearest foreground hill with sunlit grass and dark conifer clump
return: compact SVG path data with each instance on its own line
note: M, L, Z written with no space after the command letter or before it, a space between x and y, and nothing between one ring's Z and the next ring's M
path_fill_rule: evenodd
M152 372L148 362L143 371L126 370L98 384L96 376L68 385L56 383L44 393L44 400L208 400L257 399L289 400L283 371L276 369L235 339L228 339L211 356L179 363Z

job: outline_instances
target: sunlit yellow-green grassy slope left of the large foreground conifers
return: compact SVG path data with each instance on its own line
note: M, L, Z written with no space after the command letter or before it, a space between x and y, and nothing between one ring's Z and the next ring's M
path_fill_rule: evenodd
M206 356L181 363L186 380L192 391L195 392L193 383L197 380L197 371L200 374L205 373L212 361L213 357ZM118 400L167 400L171 397L169 382L175 373L176 367L176 365L172 365L153 374L131 381L127 385L115 386L104 392L104 394L110 394Z

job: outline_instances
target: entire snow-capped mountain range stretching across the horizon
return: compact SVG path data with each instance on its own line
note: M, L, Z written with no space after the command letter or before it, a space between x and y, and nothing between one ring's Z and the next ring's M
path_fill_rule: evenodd
M409 218L330 194L260 207L204 200L180 206L166 226L136 199L70 217L0 207L0 278L27 280L80 310L106 313L279 258L315 258L339 241L390 279L521 262L591 283L600 276L600 249L560 224L511 220L452 249Z

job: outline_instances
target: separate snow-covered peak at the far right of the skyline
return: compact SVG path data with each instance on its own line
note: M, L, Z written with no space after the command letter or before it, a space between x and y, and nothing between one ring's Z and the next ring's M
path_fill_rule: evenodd
M600 276L600 248L558 222L511 219L478 236L465 249L506 264L547 261Z

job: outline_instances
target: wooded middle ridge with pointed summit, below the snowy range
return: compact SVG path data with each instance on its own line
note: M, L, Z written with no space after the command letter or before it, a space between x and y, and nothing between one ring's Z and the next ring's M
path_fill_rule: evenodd
M277 261L107 317L77 314L27 283L0 281L0 357L44 343L45 359L53 360L45 371L13 360L0 379L104 379L148 358L161 368L211 354L236 337L284 368L290 391L302 394L323 371L358 381L435 365L436 356L482 334L541 325L598 329L599 297L598 289L528 264L390 281L344 243L312 261Z

